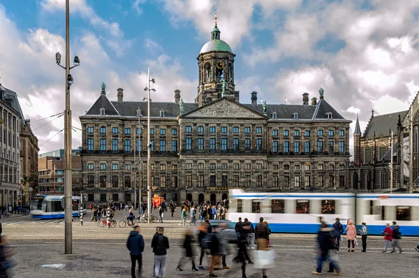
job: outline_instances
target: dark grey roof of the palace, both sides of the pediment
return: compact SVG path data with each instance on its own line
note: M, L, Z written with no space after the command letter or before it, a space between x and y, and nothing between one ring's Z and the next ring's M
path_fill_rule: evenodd
M263 105L250 103L239 103L251 110L263 114ZM210 105L210 104L209 104ZM91 106L85 115L100 115L101 108L105 108L105 115L116 115L123 117L136 117L140 108L141 115L147 116L147 103L144 101L109 101L105 94L101 94L94 105ZM152 102L150 103L151 117L160 117L160 111L164 111L164 117L178 117L179 104L175 102ZM199 108L198 103L184 103L184 114ZM317 105L285 105L267 103L267 117L277 113L277 119L294 119L293 113L298 114L298 119L316 120L328 119L326 112L332 113L332 119L346 120L324 99Z

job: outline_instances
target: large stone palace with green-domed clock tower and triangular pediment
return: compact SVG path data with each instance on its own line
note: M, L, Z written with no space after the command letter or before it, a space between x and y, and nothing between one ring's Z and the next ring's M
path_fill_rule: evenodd
M82 180L89 202L134 201L147 189L147 115L152 194L170 200L221 200L228 189L339 190L348 182L349 124L328 101L240 103L235 54L215 25L198 54L198 94L184 103L110 101L105 86L82 124ZM135 152L134 152L135 151ZM138 158L140 154L140 158ZM140 163L135 163L140 161ZM145 195L142 200L146 200Z

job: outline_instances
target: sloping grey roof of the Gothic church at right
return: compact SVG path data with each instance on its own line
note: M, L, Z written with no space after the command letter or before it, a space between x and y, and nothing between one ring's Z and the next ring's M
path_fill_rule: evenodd
M397 122L400 117L406 115L406 111L395 112L391 114L373 116L369 120L367 129L365 129L364 135L362 138L374 138L374 132L376 137L389 136L390 131L393 131L397 134Z

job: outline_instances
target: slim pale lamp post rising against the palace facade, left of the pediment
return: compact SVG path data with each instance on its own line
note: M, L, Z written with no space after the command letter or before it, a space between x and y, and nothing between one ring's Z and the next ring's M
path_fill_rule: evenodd
M154 78L150 78L150 68L148 68L148 87L145 87L144 90L148 92L147 98L142 98L143 101L147 99L147 211L148 217L147 222L150 223L150 210L152 210L152 191L151 191L151 184L152 184L152 143L150 141L150 102L152 101L150 98L150 91L156 92L155 89L151 89L150 82L154 84Z

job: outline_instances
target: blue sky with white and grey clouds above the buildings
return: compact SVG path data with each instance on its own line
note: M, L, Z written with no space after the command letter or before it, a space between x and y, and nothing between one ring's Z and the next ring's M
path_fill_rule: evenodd
M65 109L65 71L55 64L57 51L65 64L64 8L65 0L0 0L0 82L17 92L40 153L64 147L64 117L50 117ZM256 91L267 105L301 104L323 87L353 133L357 113L364 131L373 109L406 110L419 91L417 0L71 0L71 61L81 61L71 71L73 147L101 82L110 100L122 87L124 100L140 101L150 67L153 100L180 89L193 102L215 8L242 103Z

